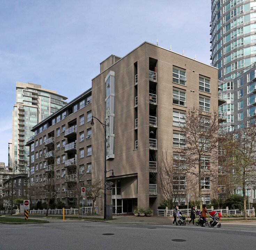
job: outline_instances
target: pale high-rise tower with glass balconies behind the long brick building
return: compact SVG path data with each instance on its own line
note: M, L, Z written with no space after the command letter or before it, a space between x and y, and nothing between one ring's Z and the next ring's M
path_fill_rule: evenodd
M9 166L19 170L28 166L26 141L34 134L32 127L60 109L66 97L34 83L16 82L16 103L12 119L12 140L9 143ZM45 128L42 128L45 129ZM10 147L11 146L11 147Z

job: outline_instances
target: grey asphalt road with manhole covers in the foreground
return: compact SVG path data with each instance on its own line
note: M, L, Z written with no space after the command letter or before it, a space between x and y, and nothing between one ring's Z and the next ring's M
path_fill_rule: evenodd
M243 250L255 249L256 222L209 228L50 219L49 224L0 224L0 239L0 250Z

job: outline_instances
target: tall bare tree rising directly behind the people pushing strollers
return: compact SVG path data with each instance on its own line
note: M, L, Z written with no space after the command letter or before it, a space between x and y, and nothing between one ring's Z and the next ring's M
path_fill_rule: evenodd
M180 152L186 156L186 169L190 185L198 187L200 209L202 209L202 190L214 187L218 178L218 113L207 113L199 107L189 108L181 126L186 147Z

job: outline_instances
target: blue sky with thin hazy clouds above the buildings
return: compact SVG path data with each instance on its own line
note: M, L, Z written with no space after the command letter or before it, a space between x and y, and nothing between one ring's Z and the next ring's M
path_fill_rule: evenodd
M147 41L210 64L210 0L0 0L0 162L8 165L16 81L68 97L100 63Z

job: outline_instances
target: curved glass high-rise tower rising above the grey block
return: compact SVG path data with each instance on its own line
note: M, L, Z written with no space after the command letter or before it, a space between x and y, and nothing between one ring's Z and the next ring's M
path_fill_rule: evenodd
M211 0L210 51L220 80L256 62L255 10L254 0Z

